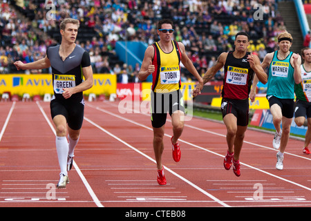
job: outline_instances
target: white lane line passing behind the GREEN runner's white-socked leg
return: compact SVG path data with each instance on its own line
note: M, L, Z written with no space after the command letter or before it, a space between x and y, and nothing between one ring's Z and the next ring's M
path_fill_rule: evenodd
M39 104L39 102L37 102L37 106L39 107L42 115L44 115L44 118L46 119L46 122L48 122L48 125L50 126L50 128L52 129L54 135L56 136L56 131L55 128L53 126L53 124L50 123L50 119L48 119L48 117L46 116L46 113L44 112L44 109L41 107L41 105ZM88 181L86 180L86 178L84 177L83 173L80 171L79 166L77 166L77 164L75 163L75 160L73 160L73 166L75 166L75 170L77 171L79 177L81 178L82 182L84 183L84 186L86 187L86 189L88 190L88 193L90 193L91 198L93 199L93 201L95 202L95 204L98 207L104 207L101 203L100 200L98 200L97 196L95 195L93 189L91 188L90 184L88 184Z

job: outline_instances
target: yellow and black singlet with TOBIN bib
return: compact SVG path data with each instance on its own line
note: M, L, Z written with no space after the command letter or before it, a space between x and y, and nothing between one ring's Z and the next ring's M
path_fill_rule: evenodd
M152 73L152 90L156 93L169 93L179 90L180 81L180 59L181 51L177 41L171 41L173 50L166 53L160 48L158 42L153 44L155 49L152 64L155 72Z

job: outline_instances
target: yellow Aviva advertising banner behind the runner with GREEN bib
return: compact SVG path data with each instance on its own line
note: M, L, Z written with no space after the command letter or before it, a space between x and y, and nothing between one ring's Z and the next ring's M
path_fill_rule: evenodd
M84 94L95 93L96 95L110 95L117 90L116 75L94 74L94 84ZM33 95L53 94L52 76L42 75L0 75L0 94L10 92L11 95L22 96L24 93Z

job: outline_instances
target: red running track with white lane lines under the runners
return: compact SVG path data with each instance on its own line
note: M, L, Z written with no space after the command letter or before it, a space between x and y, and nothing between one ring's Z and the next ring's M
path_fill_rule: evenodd
M284 169L278 171L273 135L247 130L241 177L236 177L223 168L224 124L195 117L185 122L176 163L168 115L167 185L160 186L149 114L123 106L86 102L70 184L55 189L59 166L49 103L1 102L0 206L311 206L311 156L303 155L303 141L290 139Z

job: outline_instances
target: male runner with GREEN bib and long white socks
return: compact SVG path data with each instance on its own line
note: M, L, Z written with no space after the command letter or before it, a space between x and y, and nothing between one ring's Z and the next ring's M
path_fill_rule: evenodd
M59 46L48 48L46 57L38 61L14 63L17 70L52 67L54 95L50 102L50 112L56 127L56 149L61 169L57 188L65 188L69 182L68 171L73 164L73 151L79 140L84 117L83 91L93 86L90 56L75 44L78 28L78 20L64 19L60 23L62 43ZM85 81L82 81L83 76Z

